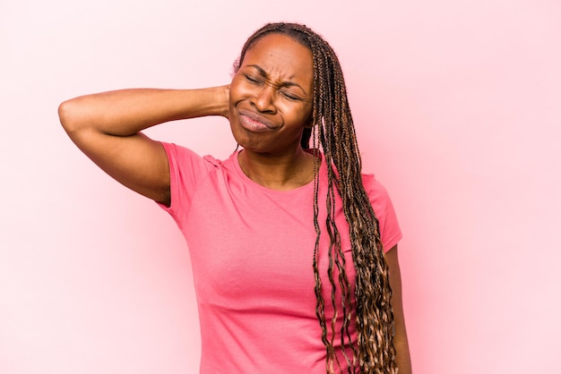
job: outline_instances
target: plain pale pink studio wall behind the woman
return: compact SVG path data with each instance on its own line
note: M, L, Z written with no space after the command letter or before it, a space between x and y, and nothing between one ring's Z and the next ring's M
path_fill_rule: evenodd
M197 371L182 237L74 148L56 107L224 84L251 31L281 20L341 57L365 169L405 233L415 372L559 370L561 3L197 3L0 3L0 372ZM235 148L221 119L150 134L217 157Z

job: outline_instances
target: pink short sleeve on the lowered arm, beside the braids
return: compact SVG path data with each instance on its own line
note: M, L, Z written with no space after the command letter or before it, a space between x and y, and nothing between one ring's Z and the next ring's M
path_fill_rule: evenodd
M380 225L380 239L384 245L384 251L390 251L402 237L392 200L384 185L379 183L373 174L363 175L363 183Z

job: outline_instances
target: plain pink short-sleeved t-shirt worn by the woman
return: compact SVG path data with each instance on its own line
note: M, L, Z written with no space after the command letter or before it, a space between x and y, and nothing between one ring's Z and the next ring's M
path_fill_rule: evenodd
M238 152L219 161L163 145L171 177L171 206L166 210L186 237L193 265L203 344L201 373L325 373L312 268L314 183L291 191L270 190L242 172ZM364 175L363 181L384 249L390 250L401 239L392 203L373 175ZM330 320L324 165L320 183L319 268ZM336 207L341 247L354 284L349 225L340 199ZM356 343L354 327L350 330ZM336 336L333 344L340 342Z

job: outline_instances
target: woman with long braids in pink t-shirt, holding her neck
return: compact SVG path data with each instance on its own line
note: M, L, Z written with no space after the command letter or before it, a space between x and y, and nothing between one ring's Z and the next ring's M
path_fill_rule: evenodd
M59 115L186 236L201 372L410 372L401 232L384 188L361 175L341 67L314 31L255 31L228 86L106 92ZM242 149L219 161L142 134L205 115L227 117Z

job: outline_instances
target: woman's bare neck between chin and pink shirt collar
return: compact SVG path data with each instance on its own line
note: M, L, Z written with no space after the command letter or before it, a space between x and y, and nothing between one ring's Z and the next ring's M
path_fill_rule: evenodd
M314 180L314 156L303 149L285 156L271 156L247 149L237 155L249 179L272 190L293 190Z

